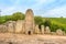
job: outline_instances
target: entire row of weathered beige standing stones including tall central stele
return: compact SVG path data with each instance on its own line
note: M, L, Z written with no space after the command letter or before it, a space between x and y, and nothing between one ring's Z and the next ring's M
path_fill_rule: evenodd
M41 28L38 28L38 25L34 22L34 13L32 9L26 10L24 20L8 21L4 24L0 24L0 32L66 35L66 33L61 29L58 29L56 32L51 32L50 26L41 25Z

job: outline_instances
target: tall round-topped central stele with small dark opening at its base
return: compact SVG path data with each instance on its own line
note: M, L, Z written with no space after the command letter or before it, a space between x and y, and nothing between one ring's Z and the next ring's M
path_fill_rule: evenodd
M34 32L34 14L31 9L25 12L25 34L33 34Z

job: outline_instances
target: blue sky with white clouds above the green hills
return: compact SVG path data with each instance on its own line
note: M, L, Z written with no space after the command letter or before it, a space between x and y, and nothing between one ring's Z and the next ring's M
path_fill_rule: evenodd
M34 15L66 18L66 0L0 0L1 15L25 13L28 9L32 9Z

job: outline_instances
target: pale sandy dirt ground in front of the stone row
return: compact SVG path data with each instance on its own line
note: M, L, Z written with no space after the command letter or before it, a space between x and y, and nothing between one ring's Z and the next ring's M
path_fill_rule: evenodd
M66 44L66 36L0 33L0 44Z

